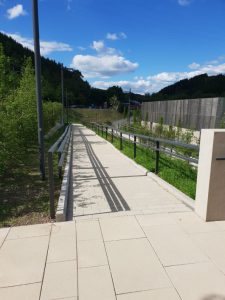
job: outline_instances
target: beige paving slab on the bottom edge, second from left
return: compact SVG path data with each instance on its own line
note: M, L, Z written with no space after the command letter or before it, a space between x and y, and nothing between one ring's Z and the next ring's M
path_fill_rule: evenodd
M41 300L77 297L76 261L46 265Z

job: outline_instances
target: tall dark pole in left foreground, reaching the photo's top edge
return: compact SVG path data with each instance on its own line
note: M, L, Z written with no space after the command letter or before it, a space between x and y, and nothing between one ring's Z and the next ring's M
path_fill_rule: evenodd
M36 78L36 99L37 99L37 119L38 119L38 144L40 173L42 180L45 180L45 152L44 152L44 131L43 131L43 109L41 94L41 55L39 40L39 20L38 20L38 0L33 0L33 34L34 34L34 60Z

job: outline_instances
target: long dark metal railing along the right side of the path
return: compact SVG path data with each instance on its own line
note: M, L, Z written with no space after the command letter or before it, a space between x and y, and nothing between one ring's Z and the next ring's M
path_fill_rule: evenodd
M176 140L170 140L170 139L163 139L163 138L157 138L142 134L137 134L134 132L127 132L124 130L120 130L117 128L113 128L111 126L105 125L105 124L98 124L98 123L89 123L87 124L92 130L96 130L98 134L103 136L104 132L106 134L106 139L108 139L108 135L111 135L111 143L114 141L114 137L119 138L120 141L120 150L123 149L123 140L129 141L133 143L133 157L136 158L137 156L137 145L140 145L142 147L151 149L155 151L156 159L155 159L155 173L158 174L159 172L159 159L160 159L160 153L164 153L166 155L169 155L170 157L175 157L178 159L182 159L185 161L188 161L190 163L198 165L198 158L191 157L184 155L182 153L179 153L179 149L186 149L186 150L193 150L195 152L199 152L199 146L198 145L192 145L192 144L185 144L180 141ZM172 147L172 149L169 149L168 147ZM175 150L174 150L175 148Z

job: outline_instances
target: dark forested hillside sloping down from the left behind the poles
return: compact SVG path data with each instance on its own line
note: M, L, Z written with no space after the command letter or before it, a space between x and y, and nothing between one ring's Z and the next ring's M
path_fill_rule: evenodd
M17 87L25 60L30 57L34 65L34 53L24 48L12 38L0 33L0 44L5 55L9 58L9 72L13 77L12 84ZM43 77L43 99L47 101L61 101L61 65L53 60L41 58ZM103 106L104 102L110 103L110 98L116 96L119 102L128 100L128 95L120 87L110 87L108 90L92 88L83 79L79 70L64 67L64 85L67 90L69 105L95 105ZM143 96L131 94L134 100L142 100Z

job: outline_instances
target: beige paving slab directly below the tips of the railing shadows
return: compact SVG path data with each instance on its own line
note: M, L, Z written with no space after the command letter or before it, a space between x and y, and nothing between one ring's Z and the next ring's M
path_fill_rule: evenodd
M134 216L101 219L100 225L105 241L145 237L144 232Z

